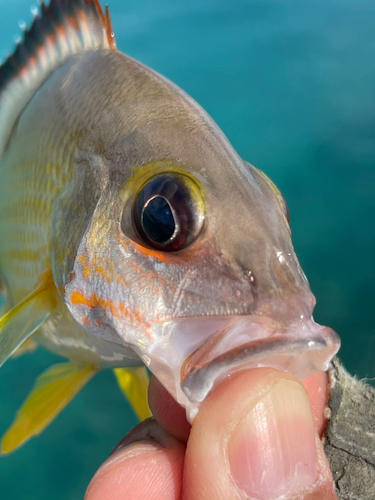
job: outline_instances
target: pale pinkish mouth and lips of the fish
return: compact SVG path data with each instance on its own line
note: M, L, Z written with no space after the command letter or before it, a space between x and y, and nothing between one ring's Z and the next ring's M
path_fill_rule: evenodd
M326 371L340 348L337 333L312 318L288 326L263 316L179 318L152 330L155 341L141 358L190 422L208 393L233 373L270 367L302 380Z

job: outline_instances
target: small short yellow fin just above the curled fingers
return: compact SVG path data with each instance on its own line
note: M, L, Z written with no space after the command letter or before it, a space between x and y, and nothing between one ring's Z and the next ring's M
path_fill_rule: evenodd
M138 368L115 368L114 373L120 389L129 399L140 420L151 417L147 403L148 374L145 366Z

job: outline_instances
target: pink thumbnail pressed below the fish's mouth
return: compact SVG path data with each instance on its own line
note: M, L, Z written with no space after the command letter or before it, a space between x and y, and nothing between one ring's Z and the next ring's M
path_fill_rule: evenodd
M260 395L227 449L232 476L251 498L274 500L315 483L315 428L303 387L282 379Z

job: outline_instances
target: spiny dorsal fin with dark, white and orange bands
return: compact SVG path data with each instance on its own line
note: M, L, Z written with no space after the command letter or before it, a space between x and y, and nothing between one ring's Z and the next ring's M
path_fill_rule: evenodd
M20 111L48 74L70 55L116 49L108 6L99 0L51 0L0 66L0 158Z

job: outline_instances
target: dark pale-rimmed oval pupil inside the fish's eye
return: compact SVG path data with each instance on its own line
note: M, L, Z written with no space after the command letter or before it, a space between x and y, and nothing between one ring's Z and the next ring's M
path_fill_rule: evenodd
M150 240L165 243L176 230L176 223L169 203L162 196L155 196L144 206L142 226Z

